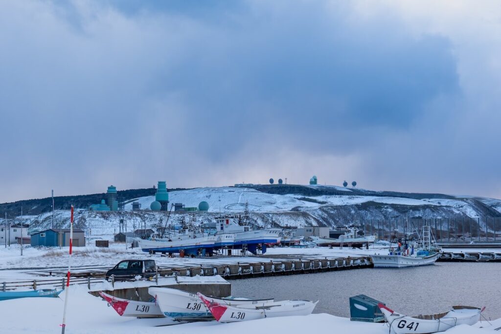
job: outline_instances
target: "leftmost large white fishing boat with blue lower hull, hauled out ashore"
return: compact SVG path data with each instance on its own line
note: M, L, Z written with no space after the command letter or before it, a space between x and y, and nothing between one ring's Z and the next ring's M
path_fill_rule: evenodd
M177 253L204 255L206 249L213 248L218 241L215 235L200 234L194 227L183 228L179 233L168 238L151 238L138 240L142 251L153 253Z

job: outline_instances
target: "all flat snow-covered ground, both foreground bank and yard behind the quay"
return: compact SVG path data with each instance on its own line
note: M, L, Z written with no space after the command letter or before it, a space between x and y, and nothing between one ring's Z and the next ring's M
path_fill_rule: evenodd
M3 280L14 281L21 279L44 279L50 277L40 277L46 274L51 267L60 267L65 271L68 263L67 248L62 249L37 249L27 247L20 256L19 246L11 248L0 248L0 282ZM191 266L200 264L220 264L220 263L249 263L280 260L283 258L335 258L346 256L370 255L385 252L381 246L366 249L339 249L338 247L329 249L327 247L312 248L270 248L266 257L212 257L212 258L168 258L158 255L149 255L139 249L125 249L124 244L111 244L109 249L96 247L76 248L73 257L73 264L78 271L86 270L89 266L100 266L105 270L119 260L124 258L154 258L159 266ZM26 269L10 269L26 268ZM172 278L162 278L167 282ZM190 279L218 279L217 277L187 277ZM159 281L159 283L162 283ZM116 283L115 288L120 284L142 286L151 284L145 281ZM44 286L45 287L45 286ZM110 283L103 282L94 284L95 288L111 289ZM169 319L136 319L120 317L116 312L107 306L107 303L98 297L94 297L87 292L85 285L75 285L70 288L67 315L67 333L172 333L184 334L194 331L201 331L204 334L220 334L221 332L239 332L240 334L256 332L288 332L301 333L307 331L314 332L336 332L336 333L361 333L361 334L383 334L388 333L386 324L374 324L365 322L354 322L347 318L337 317L325 313L311 314L308 316L293 316L283 318L267 318L261 320L245 321L243 323L218 323L198 322L188 324L173 324ZM62 322L63 305L65 292L60 298L25 298L15 300L0 301L0 314L3 319L0 332L6 333L54 333L59 332ZM321 311L320 309L318 311ZM501 319L491 321L491 324L483 321L475 326L458 326L448 330L452 334L475 334L496 332L493 329L501 326ZM480 328L483 327L483 328Z

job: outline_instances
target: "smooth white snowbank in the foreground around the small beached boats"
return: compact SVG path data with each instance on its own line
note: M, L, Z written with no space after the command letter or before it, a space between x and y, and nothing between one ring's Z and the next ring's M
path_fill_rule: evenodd
M4 319L2 321L2 332L10 334L59 332L63 318L64 298L66 298L65 292L61 294L60 298L24 298L0 301L0 314ZM491 325L485 321L479 322L472 327L461 325L448 330L447 333L496 332L493 329L499 326L501 326L501 319L491 321ZM66 332L75 334L184 334L193 332L203 332L204 334L220 334L221 332L239 334L256 334L259 332L386 334L388 333L388 327L384 323L350 321L348 318L325 313L266 318L237 323L210 321L172 325L172 322L165 318L136 319L120 317L101 298L88 294L83 287L72 287L68 299Z

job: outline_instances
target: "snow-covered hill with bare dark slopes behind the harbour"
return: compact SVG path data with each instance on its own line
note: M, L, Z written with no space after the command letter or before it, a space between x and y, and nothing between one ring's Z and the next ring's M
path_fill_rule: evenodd
M307 188L307 187L304 187ZM262 192L243 187L196 188L169 193L170 203L183 203L186 207L198 206L201 201L209 203L208 212L172 212L169 224L181 221L192 221L197 224L213 222L219 214L241 214L245 203L248 203L252 220L262 226L342 226L346 223L358 222L369 224L370 221L384 222L411 219L469 219L479 220L482 230L487 224L493 229L495 219L501 219L501 201L491 198L458 197L430 194L411 194L413 198L395 196L376 196L379 193L350 188L328 188L328 186L308 187L310 190L321 189L324 193L337 195L311 195L308 191L299 194L279 194ZM272 191L279 188L271 188ZM292 188L296 189L296 188ZM326 191L327 189L327 191ZM333 191L332 191L333 190ZM283 191L283 189L282 189ZM363 195L364 193L368 195ZM376 194L376 195L375 195ZM123 212L96 212L78 209L75 214L76 226L90 230L93 238L110 239L119 230L119 220L123 218L128 230L156 227L165 224L168 212L149 210L154 196L136 199L141 203L141 211L131 211L132 200ZM51 213L25 217L32 222L31 230L41 230L52 226ZM55 226L67 227L70 213L57 210ZM497 230L501 224L497 221Z

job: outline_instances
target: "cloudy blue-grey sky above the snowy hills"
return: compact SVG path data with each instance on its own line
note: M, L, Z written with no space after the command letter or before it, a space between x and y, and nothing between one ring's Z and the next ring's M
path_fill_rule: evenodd
M0 2L0 202L267 183L501 197L497 1Z

